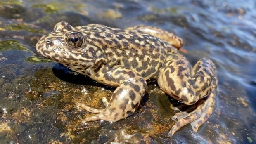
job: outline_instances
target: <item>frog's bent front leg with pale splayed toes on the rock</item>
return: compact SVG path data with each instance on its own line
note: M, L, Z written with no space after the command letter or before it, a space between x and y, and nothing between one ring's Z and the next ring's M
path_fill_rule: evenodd
M106 120L115 122L132 115L140 105L145 94L147 83L139 74L124 68L123 66L105 66L92 77L98 82L104 81L106 85L118 86L111 99L107 102L102 98L105 109L94 109L83 103L77 103L85 110L97 113L86 117L82 123L93 120Z

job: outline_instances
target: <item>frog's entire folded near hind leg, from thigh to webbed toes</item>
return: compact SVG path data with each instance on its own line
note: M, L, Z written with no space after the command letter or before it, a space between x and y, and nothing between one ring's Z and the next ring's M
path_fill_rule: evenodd
M187 59L177 53L167 54L166 61L159 74L158 84L164 92L187 105L197 104L197 108L188 112L176 113L178 118L168 135L172 136L184 125L191 123L194 131L213 113L217 85L215 65L209 59L200 59L191 68ZM207 99L201 99L203 97ZM200 99L200 100L199 100Z

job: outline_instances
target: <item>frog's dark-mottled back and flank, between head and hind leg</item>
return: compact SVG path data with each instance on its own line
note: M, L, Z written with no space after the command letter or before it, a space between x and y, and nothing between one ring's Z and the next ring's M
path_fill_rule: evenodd
M108 63L123 65L146 80L156 80L166 53L173 47L138 30L121 30L99 24L81 27L85 40L101 48Z

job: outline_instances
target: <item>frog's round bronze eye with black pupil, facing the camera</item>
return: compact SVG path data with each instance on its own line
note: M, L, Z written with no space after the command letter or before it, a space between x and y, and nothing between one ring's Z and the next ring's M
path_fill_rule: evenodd
M69 33L69 35L66 36L66 44L70 47L77 48L81 47L83 45L83 35L78 32L72 32Z

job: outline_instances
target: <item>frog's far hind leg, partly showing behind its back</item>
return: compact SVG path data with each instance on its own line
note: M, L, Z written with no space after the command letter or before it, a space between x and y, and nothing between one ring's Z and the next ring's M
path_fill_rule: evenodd
M161 28L152 27L152 26L133 26L126 28L127 30L139 30L143 31L144 33L149 33L154 35L161 40L168 42L170 45L176 48L180 48L183 46L183 40L173 33L169 33Z

